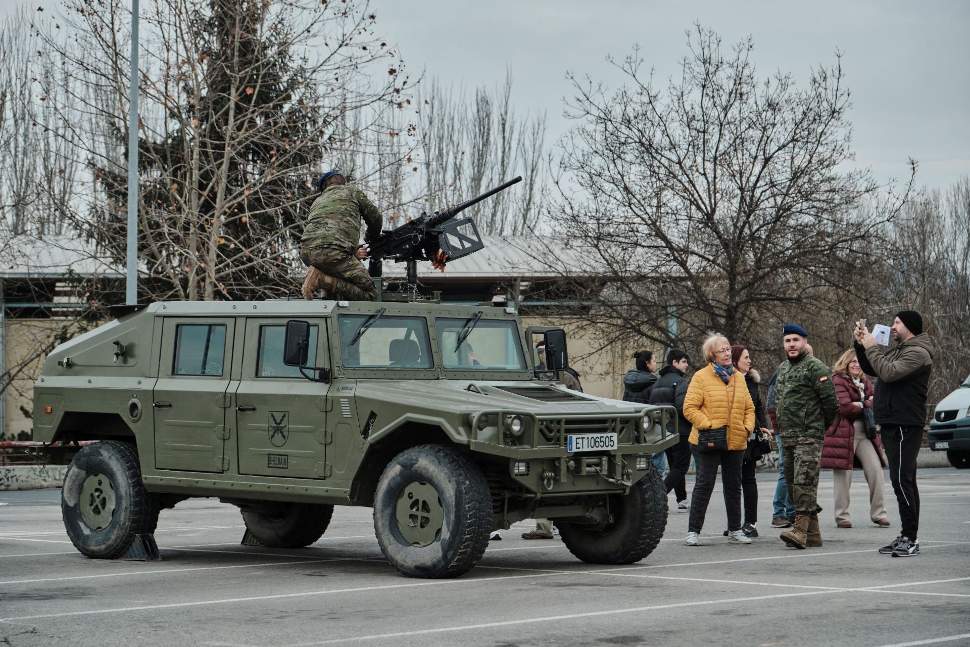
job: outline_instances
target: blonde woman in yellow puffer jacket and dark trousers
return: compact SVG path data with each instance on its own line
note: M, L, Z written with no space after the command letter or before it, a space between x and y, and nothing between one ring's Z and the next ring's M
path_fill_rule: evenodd
M684 417L692 425L691 451L694 454L696 476L691 497L691 518L687 526L688 546L696 546L704 525L707 503L714 491L714 482L721 467L721 484L727 508L727 540L751 543L741 531L741 464L748 448L748 437L755 429L755 403L748 393L744 375L734 371L730 361L730 342L712 335L704 340L704 359L707 366L694 373L684 399ZM697 451L699 430L727 426L727 450Z

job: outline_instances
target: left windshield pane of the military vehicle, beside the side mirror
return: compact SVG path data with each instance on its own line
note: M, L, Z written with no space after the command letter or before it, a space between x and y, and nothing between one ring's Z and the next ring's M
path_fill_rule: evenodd
M431 369L431 342L424 317L339 316L340 361L348 369ZM358 337L361 327L370 326Z

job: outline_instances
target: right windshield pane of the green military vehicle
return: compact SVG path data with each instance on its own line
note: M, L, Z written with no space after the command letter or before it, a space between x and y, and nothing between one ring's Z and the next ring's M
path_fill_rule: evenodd
M525 371L519 328L514 321L481 319L470 331L469 319L436 319L441 366L464 371ZM468 337L458 343L462 331Z

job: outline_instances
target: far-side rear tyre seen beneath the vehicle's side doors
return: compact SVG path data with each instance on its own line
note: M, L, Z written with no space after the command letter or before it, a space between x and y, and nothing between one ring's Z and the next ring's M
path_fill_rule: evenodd
M242 523L269 548L303 548L323 536L334 506L317 503L279 503L272 512L242 510Z

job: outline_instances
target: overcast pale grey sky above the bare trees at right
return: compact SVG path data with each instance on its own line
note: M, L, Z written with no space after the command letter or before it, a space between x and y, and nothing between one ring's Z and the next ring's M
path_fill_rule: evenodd
M0 0L9 1L9 0ZM759 76L810 70L843 52L852 90L859 166L877 178L944 185L970 175L970 2L598 2L573 0L372 0L378 32L397 42L410 71L445 83L496 85L514 75L520 113L545 112L554 141L566 131L566 71L622 78L605 61L639 44L663 81L687 53L699 20L724 44L751 35Z

